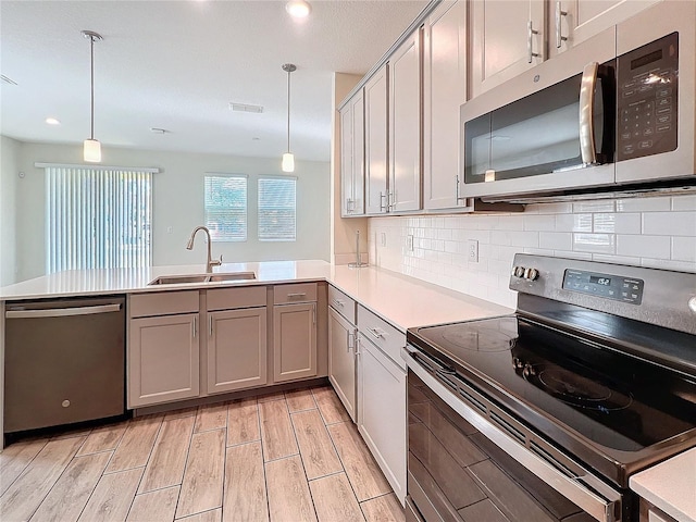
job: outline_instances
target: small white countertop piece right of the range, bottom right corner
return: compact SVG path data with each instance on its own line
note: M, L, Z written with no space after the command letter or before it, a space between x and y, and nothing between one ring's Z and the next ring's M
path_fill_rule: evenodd
M696 448L636 473L629 485L679 522L696 522Z

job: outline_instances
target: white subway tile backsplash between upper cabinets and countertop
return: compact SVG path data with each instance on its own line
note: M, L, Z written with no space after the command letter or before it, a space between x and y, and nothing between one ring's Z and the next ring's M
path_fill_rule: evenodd
M478 241L477 263L467 259L470 239ZM370 219L372 264L513 308L517 294L508 283L515 252L696 272L696 196L531 204L520 214Z

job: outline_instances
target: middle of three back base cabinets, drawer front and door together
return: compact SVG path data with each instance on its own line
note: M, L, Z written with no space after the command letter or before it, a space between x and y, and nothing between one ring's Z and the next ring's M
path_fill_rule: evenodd
M207 294L208 393L263 386L268 383L265 287Z

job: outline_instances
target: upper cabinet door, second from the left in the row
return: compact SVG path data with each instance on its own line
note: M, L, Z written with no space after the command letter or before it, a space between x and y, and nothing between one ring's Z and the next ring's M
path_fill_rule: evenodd
M387 65L364 87L365 103L365 212L387 211Z

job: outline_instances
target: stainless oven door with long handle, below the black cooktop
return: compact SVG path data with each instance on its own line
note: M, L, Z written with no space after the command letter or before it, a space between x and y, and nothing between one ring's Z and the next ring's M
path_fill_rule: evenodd
M521 444L525 434L522 430L515 434L509 415L473 388L455 383L451 372L427 356L409 347L405 358L409 369L407 487L415 520L627 520L622 518L619 492L570 459L555 459L558 450L550 445L529 439L529 447ZM507 425L508 433L489 418Z

